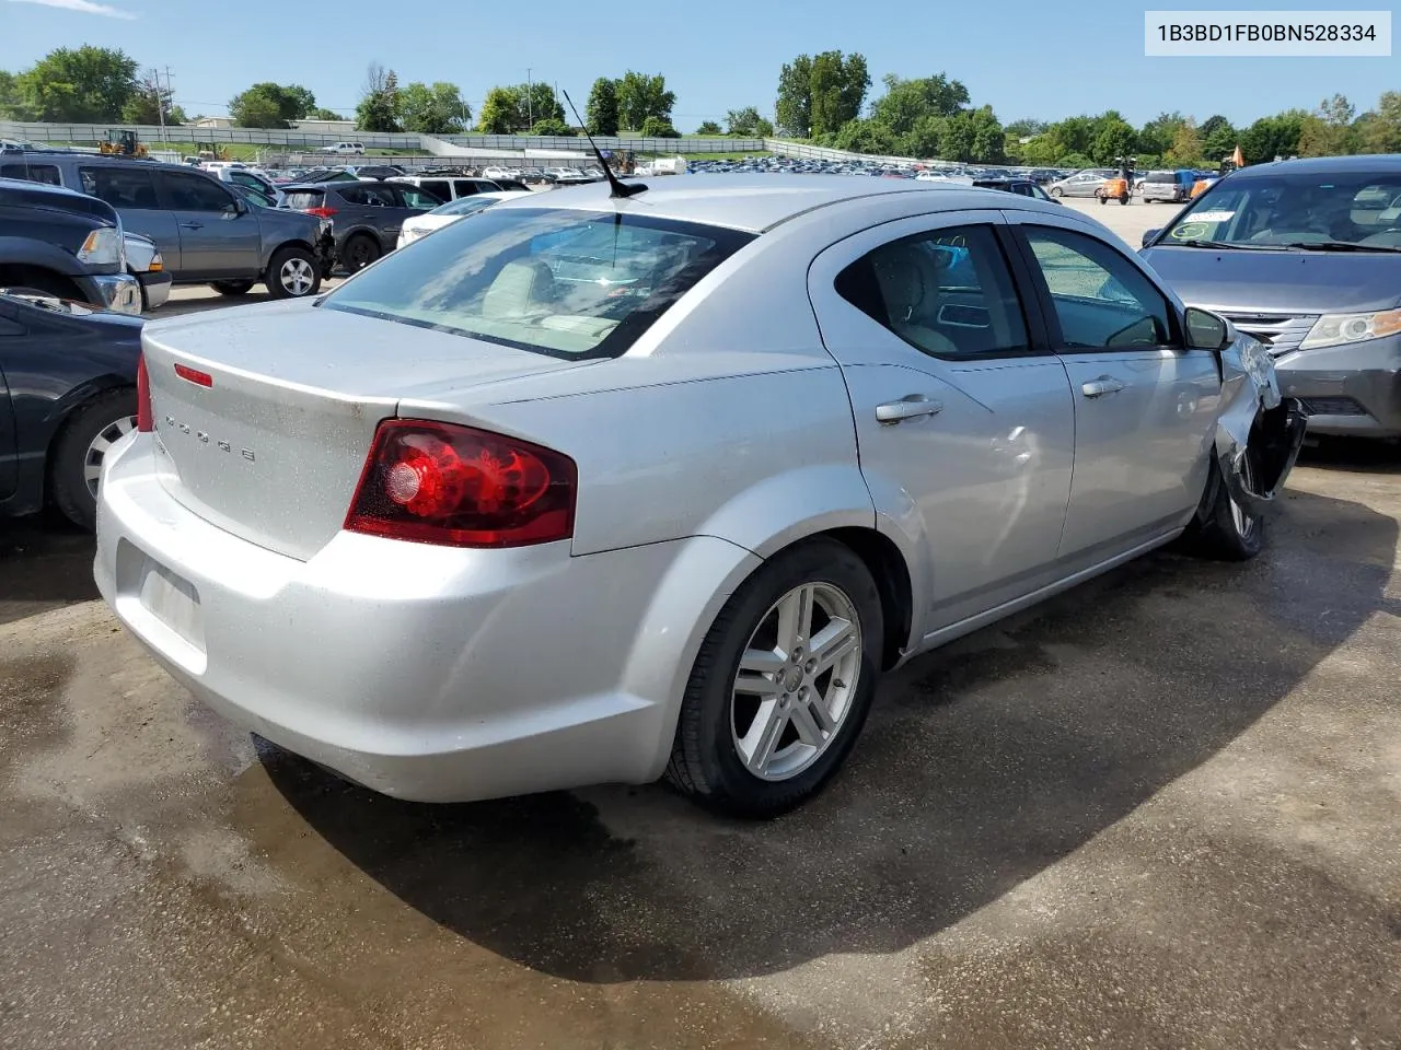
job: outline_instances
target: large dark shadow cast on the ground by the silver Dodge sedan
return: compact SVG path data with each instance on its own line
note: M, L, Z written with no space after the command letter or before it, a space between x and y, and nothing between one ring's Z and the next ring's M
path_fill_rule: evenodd
M912 661L884 679L846 770L771 823L663 787L415 805L270 746L262 762L384 889L551 976L734 979L894 952L1132 813L1374 610L1401 612L1395 521L1292 490L1272 525L1250 564L1159 553Z

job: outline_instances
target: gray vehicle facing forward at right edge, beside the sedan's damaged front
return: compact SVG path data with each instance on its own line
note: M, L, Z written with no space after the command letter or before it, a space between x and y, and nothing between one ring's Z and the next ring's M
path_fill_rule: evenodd
M1401 437L1401 155L1241 168L1142 255L1269 347L1311 431Z

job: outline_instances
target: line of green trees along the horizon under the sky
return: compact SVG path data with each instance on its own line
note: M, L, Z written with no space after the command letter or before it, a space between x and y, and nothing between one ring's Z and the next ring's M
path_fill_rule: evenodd
M771 120L759 106L706 120L698 134L768 137L775 133L818 146L867 154L927 157L976 164L1091 167L1135 155L1142 168L1215 167L1236 147L1248 164L1275 157L1321 157L1351 153L1401 153L1401 91L1383 92L1376 106L1359 112L1344 95L1316 109L1288 109L1233 126L1222 115L1195 120L1163 112L1135 126L1118 111L1048 122L1031 118L1003 125L992 106L974 105L967 85L946 73L901 77L888 73L871 97L864 56L827 50L799 55L779 70ZM583 125L590 134L635 132L677 137L675 92L660 73L628 70L598 77L586 101ZM240 127L289 127L294 120L340 119L317 105L297 84L259 83L228 101ZM59 48L20 73L0 70L0 118L55 123L188 123L168 85L154 71L140 71L122 50ZM572 136L573 113L546 81L492 87L474 118L455 84L399 84L394 70L371 63L354 111L366 132L455 134Z

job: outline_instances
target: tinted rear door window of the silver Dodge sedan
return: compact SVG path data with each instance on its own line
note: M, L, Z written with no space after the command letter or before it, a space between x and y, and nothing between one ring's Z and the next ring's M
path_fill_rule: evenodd
M884 244L838 274L836 293L934 357L999 357L1028 349L1012 273L988 225Z

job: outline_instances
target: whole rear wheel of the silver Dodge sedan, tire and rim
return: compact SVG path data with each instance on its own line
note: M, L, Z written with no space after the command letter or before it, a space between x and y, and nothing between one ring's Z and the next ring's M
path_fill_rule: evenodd
M814 539L766 561L700 644L667 778L747 818L815 795L860 735L883 631L876 582L849 547Z

